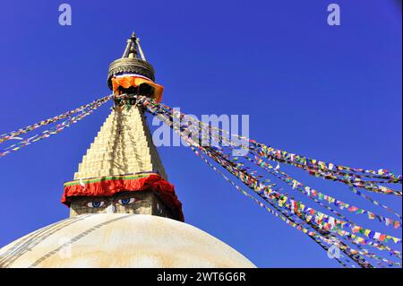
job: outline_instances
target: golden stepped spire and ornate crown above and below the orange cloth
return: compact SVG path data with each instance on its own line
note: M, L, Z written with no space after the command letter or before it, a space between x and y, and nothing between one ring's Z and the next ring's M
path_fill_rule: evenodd
M109 66L108 83L120 74L135 73L153 78L152 66L137 57L140 46L134 32L126 43L122 58ZM138 172L157 172L167 179L141 108L114 108L82 158L74 179Z

